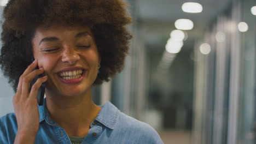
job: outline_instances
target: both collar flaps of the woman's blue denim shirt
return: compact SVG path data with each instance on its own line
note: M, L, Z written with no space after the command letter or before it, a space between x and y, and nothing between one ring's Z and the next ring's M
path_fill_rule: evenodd
M107 101L101 107L102 109L98 113L95 120L102 123L109 129L114 129L115 124L117 123L117 119L120 111L118 110L117 107L115 107L112 103L110 103L110 101ZM58 125L49 116L49 112L46 108L46 99L44 99L44 103L42 106L38 105L38 111L39 111L39 122L42 122L45 120L50 125Z

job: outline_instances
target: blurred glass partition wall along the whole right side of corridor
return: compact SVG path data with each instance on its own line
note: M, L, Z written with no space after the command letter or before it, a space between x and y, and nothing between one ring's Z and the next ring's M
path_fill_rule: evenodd
M255 143L255 5L232 1L195 45L193 143Z

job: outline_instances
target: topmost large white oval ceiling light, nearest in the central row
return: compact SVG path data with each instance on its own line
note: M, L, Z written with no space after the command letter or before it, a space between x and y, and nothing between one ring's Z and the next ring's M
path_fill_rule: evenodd
M186 13L201 13L202 5L200 3L183 3L182 10Z

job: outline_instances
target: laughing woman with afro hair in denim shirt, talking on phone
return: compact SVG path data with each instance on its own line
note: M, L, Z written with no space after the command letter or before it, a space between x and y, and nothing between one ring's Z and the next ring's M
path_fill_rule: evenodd
M0 64L16 94L15 113L0 119L0 143L162 143L148 124L91 98L93 86L123 69L125 3L10 0L3 16Z

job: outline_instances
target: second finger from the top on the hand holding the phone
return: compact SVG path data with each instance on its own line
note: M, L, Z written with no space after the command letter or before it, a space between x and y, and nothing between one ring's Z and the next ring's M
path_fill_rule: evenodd
M22 79L22 97L28 97L31 81L38 75L43 74L43 68L36 69Z

